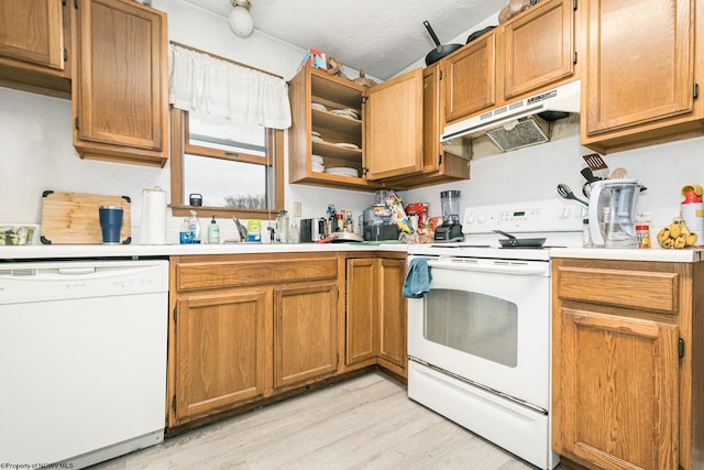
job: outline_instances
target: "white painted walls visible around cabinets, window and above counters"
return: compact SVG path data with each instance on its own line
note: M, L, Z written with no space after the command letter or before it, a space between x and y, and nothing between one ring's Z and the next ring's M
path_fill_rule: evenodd
M240 39L224 19L195 9L179 0L153 0L168 13L169 39L212 52L254 67L293 77L304 51L270 36L254 33ZM477 25L480 29L484 23ZM471 31L470 31L471 32ZM466 39L466 34L454 42ZM416 65L422 64L422 57ZM169 190L169 168L84 161L72 145L70 102L0 88L0 223L41 221L41 194L45 189L127 195L132 198L134 237L139 230L142 189L155 185ZM704 139L651 146L604 156L610 168L623 166L648 190L639 210L653 212L653 227L679 212L680 188L704 184ZM463 207L472 204L508 203L558 197L556 186L565 183L581 194L584 166L576 135L543 145L472 162L468 182L400 192L405 203L428 201L431 215L440 215L440 192L461 189ZM373 203L373 194L311 186L286 185L287 207L302 203L304 217L321 216L326 205L354 211L356 217ZM204 222L207 215L201 215ZM169 241L176 241L179 219L169 221ZM221 223L223 237L232 227ZM136 238L134 238L136 240Z

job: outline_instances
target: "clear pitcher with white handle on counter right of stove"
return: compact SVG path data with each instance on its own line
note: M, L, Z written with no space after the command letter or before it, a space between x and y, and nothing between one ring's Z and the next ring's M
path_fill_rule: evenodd
M590 195L590 232L595 247L637 248L637 179L603 179L592 184Z

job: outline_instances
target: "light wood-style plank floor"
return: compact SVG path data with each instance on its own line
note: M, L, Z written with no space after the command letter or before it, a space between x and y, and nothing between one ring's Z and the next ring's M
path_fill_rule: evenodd
M118 469L463 469L534 467L370 373L95 466Z

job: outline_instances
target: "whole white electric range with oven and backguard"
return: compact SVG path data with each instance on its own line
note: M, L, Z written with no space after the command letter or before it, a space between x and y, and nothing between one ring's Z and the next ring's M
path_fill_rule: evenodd
M551 450L549 247L581 247L583 207L563 199L470 207L464 241L409 247L429 292L408 299L408 396L541 469ZM543 248L499 248L493 230Z

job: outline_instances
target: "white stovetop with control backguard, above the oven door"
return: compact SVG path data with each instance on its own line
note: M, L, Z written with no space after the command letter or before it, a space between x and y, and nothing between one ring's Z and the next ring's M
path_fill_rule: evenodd
M582 220L585 208L565 199L540 199L501 205L471 206L464 210L464 240L409 245L409 254L493 258L503 260L550 259L551 248L582 245ZM518 239L544 238L542 247L504 248L495 233L503 230Z

